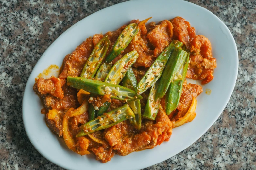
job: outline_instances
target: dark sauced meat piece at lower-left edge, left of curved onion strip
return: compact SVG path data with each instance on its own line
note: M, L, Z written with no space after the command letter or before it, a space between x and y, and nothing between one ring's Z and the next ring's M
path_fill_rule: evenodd
M57 135L62 136L62 120L65 112L58 111L57 115L54 117L54 119L49 119L48 118L49 112L46 114L46 122L50 129L56 133Z

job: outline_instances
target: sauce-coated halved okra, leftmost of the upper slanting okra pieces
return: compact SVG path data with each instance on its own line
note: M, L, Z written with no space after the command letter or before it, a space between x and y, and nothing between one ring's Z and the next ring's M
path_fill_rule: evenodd
M86 61L80 77L94 78L104 56L109 48L109 39L106 35L94 47L92 54Z

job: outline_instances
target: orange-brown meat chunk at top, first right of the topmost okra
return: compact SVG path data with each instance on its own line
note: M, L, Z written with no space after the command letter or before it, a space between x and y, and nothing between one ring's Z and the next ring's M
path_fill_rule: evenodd
M168 20L163 20L147 35L150 43L155 47L154 55L158 56L172 41L173 25Z

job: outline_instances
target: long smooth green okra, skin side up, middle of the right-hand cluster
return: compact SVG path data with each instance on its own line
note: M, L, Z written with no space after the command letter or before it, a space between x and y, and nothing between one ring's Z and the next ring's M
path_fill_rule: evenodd
M162 77L160 78L160 85L157 88L155 100L161 99L165 95L173 78L179 71L181 65L184 63L187 55L188 53L182 50L181 47L175 47L166 64L166 68L163 71Z

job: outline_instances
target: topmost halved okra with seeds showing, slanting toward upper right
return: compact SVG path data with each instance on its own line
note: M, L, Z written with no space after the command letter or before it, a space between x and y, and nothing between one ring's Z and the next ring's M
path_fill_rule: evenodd
M121 54L121 52L128 46L134 36L138 33L138 30L138 25L136 23L131 23L125 27L113 45L112 51L106 58L107 63L110 63L114 58L116 58L116 56Z

